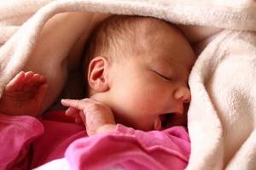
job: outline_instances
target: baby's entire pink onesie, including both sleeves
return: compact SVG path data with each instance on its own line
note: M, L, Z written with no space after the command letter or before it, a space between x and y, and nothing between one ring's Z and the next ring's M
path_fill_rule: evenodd
M113 133L88 138L64 111L40 120L0 114L0 144L1 170L31 169L64 156L74 170L184 169L190 151L184 127L143 132L118 124Z

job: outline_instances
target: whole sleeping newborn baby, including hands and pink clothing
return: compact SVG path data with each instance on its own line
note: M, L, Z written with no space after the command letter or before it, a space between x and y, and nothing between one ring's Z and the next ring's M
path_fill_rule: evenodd
M31 117L41 114L49 90L43 75L21 71L8 83L0 113L13 115L2 125L15 130L3 131L1 138L19 144L4 143L0 152L13 148L10 162L24 158L32 162L31 168L62 157L75 168L184 169L189 161L189 134L177 125L187 122L188 79L195 55L181 31L163 20L117 15L96 26L85 47L86 98L62 99L67 111L46 113L39 121ZM83 125L61 122L63 117L58 119L55 113L84 122L90 138ZM28 133L26 122L33 122ZM30 143L24 141L31 133ZM20 147L22 155L17 156ZM101 154L99 148L104 150ZM108 159L116 154L122 156ZM95 157L98 162L91 163Z

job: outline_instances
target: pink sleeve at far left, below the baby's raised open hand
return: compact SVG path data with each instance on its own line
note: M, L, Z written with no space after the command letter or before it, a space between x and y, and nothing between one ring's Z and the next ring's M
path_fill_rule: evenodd
M0 114L0 169L26 169L32 140L44 132L44 127L31 116Z

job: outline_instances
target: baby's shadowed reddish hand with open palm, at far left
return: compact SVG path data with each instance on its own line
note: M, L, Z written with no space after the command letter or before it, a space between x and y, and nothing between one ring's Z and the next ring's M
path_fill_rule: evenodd
M32 71L21 71L6 85L0 99L0 112L38 116L47 88L45 77Z

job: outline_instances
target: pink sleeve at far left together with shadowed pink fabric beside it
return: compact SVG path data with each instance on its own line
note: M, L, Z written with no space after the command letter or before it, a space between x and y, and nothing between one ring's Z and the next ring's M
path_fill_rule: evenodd
M84 126L72 123L63 111L46 117L0 114L1 170L31 169L64 157L67 146L86 135Z

